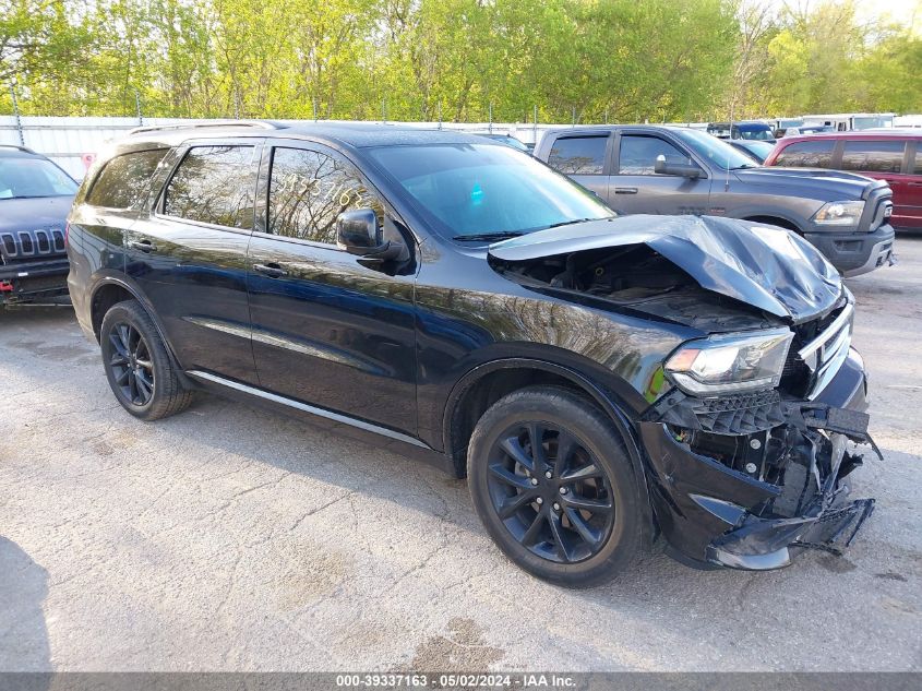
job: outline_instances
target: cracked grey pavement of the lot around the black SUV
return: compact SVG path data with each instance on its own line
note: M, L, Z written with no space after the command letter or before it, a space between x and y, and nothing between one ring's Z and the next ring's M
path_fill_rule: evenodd
M886 460L846 558L656 552L584 592L511 565L463 481L220 398L136 421L69 308L0 312L0 669L922 669L922 239L898 254L849 282Z

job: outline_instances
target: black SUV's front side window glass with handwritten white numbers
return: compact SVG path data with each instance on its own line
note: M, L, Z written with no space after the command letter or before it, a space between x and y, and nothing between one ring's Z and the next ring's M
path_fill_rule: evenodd
M306 148L274 151L268 233L336 245L336 217L356 209L373 209L379 222L383 221L381 202L352 164Z

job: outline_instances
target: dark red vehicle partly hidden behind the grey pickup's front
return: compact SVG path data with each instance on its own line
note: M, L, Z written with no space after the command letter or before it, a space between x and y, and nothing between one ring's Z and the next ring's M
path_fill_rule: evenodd
M890 224L922 230L922 132L888 130L787 138L768 166L811 167L859 172L883 180L894 191Z

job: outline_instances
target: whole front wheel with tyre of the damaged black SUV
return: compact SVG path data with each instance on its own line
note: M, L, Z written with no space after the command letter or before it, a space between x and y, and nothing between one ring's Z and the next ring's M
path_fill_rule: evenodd
M500 549L539 579L595 585L642 545L624 442L598 407L566 389L523 389L488 409L470 438L468 486Z

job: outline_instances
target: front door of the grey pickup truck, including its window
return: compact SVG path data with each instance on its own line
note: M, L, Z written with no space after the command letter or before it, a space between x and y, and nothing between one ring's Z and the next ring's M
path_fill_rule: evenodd
M622 131L615 144L615 169L609 183L611 206L625 214L707 214L710 179L656 172L657 156L701 166L678 142L657 134Z

